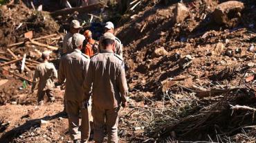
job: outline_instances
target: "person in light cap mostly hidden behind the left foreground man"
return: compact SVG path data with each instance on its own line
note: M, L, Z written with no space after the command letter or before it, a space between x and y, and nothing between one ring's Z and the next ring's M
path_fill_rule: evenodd
M72 47L72 43L71 43L72 36L75 33L79 33L81 28L82 28L82 26L80 25L79 21L77 21L77 20L71 21L70 30L66 34L66 36L64 36L64 39L63 39L62 49L60 50L61 55L71 53L73 51L73 47Z

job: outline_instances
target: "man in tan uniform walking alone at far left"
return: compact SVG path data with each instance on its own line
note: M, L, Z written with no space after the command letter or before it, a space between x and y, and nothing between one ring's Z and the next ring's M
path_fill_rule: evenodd
M37 79L39 78L37 101L40 105L44 104L45 94L48 96L48 100L51 102L55 100L53 97L53 87L55 87L53 78L57 78L57 70L55 69L53 63L48 63L49 58L50 53L47 51L43 52L42 59L44 62L37 65L31 88L31 93L33 93Z

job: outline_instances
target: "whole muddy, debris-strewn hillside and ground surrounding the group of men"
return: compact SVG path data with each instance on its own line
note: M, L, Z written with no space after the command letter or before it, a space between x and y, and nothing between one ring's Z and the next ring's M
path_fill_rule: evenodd
M65 87L41 106L30 88L44 50L58 69L73 19L95 39L113 21L124 45L129 106L119 142L255 142L255 0L104 1L51 12L8 2L0 5L0 142L71 142Z

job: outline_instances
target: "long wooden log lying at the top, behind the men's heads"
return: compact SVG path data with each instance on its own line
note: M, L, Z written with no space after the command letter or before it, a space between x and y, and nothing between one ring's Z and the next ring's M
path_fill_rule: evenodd
M73 12L79 12L79 13L86 13L86 12L91 12L93 10L99 10L100 8L103 8L104 4L103 3L95 3L92 5L88 6L82 6L80 8L67 8L64 10L57 10L55 12L51 12L51 16L57 17L60 15L67 15L67 14L72 14Z

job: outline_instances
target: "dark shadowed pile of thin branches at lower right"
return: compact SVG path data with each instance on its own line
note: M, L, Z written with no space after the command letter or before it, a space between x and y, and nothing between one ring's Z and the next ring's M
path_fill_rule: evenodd
M218 97L217 102L203 106L203 100L194 113L183 118L165 121L157 126L154 136L178 140L204 140L210 142L234 142L237 133L255 124L255 90L237 87ZM193 109L190 109L193 110ZM231 138L230 138L231 137Z

